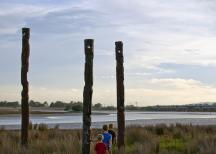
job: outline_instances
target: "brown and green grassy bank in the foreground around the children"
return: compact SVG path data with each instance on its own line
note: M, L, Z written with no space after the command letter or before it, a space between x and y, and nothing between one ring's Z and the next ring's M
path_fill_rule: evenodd
M101 130L92 130L92 139ZM79 154L81 130L47 129L46 125L30 130L26 154ZM92 143L92 153L94 143ZM166 125L131 126L126 129L127 154L215 154L216 126ZM0 130L0 153L20 154L20 132ZM114 147L113 153L116 154Z

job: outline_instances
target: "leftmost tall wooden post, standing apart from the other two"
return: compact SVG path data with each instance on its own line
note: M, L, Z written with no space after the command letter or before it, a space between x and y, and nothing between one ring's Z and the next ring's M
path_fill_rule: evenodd
M21 128L21 144L28 144L28 125L29 125L29 86L28 86L28 69L29 69L29 54L30 54L30 46L29 46L29 38L30 38L30 29L22 28L22 67L21 67L21 84L22 84L22 128Z

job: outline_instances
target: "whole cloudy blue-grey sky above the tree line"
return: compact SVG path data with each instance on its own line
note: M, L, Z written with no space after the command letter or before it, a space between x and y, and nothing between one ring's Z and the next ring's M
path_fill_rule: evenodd
M90 38L93 104L116 105L115 41L124 43L125 105L215 102L215 16L214 0L0 0L0 100L21 100L29 27L31 100L82 101Z

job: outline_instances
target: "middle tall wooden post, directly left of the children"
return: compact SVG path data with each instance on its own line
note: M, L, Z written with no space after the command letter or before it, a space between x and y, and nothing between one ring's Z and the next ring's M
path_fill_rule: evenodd
M93 86L94 40L86 39L85 46L85 86L83 91L83 144L82 153L90 154L91 107Z

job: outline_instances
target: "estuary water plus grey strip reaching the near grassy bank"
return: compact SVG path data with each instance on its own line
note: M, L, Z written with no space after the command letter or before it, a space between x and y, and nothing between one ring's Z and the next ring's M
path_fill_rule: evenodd
M216 112L125 112L126 125L155 125L165 124L193 124L214 125L216 124ZM59 125L61 129L82 128L82 114L50 114L30 115L33 124L44 123L49 127ZM92 127L101 127L104 123L116 124L116 112L95 112L92 115ZM20 115L0 116L0 127L6 129L20 129Z

